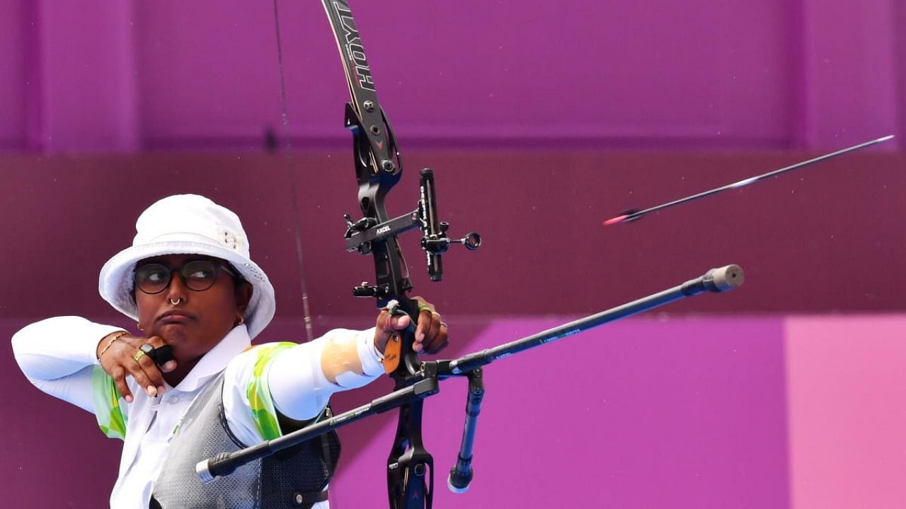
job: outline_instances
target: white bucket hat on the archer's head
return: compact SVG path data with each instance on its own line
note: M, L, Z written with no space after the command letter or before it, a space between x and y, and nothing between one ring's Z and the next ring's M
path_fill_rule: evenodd
M135 264L160 255L206 255L226 260L252 284L246 327L252 338L274 318L274 287L248 254L248 238L239 216L206 197L176 195L149 206L135 222L132 246L101 267L98 291L108 303L139 319L132 298Z

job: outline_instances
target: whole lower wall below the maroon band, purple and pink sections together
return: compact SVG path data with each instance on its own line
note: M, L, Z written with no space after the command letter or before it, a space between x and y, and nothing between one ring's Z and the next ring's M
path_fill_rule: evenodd
M451 317L450 357L566 320ZM320 320L364 326L369 317ZM113 320L116 322L116 320ZM119 321L123 325L128 323ZM23 320L0 321L5 336ZM426 402L437 507L899 507L906 464L895 401L906 386L906 316L631 319L499 360L486 369L476 478L443 486L461 434L465 385ZM265 340L299 339L280 320ZM0 487L14 507L105 504L119 447L93 418L37 393L0 358ZM334 398L352 408L388 380ZM334 507L381 507L395 416L341 430Z

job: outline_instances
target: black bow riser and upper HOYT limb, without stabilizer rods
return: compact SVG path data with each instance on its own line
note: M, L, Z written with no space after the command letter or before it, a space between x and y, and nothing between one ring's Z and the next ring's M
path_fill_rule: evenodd
M412 284L396 238L401 230L392 231L392 226L384 225L390 220L384 199L402 176L400 153L390 123L378 103L371 68L349 5L344 0L322 0L322 3L333 27L352 96L352 102L346 106L346 127L352 131L363 217L352 223L347 216L346 237L349 241L355 235L370 235L371 240L357 245L357 249L363 255L373 256L376 277L373 286L363 283L353 294L376 297L379 307L395 300L414 322L418 320L419 310L407 297ZM418 354L412 350L413 328L401 332L400 364L390 375L397 389L410 386L411 375L419 370ZM397 435L387 460L388 495L393 509L431 506L433 460L421 444L421 412L420 399L400 408Z

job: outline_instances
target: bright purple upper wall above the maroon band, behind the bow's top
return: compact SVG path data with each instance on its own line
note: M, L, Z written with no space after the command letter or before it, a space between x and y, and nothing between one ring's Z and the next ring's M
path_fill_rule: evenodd
M0 147L261 147L281 124L273 8L214 5L2 0ZM353 7L404 146L832 149L902 126L897 5ZM280 9L294 146L345 143L323 10Z

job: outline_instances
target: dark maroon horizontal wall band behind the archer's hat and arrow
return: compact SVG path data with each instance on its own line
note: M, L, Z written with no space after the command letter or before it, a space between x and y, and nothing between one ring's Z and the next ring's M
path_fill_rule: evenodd
M415 233L404 235L416 293L458 314L590 312L736 263L747 284L677 312L897 311L906 233L903 158L863 153L773 178L630 224L602 220L796 160L803 153L413 152L391 214L415 208L416 169L436 170L451 233L476 230L477 252L451 249L430 283ZM154 155L6 158L0 238L9 239L0 315L107 313L95 277L130 245L134 221L173 193L206 194L243 218L252 255L274 280L278 313L302 313L292 175L304 283L315 316L368 312L352 285L371 259L343 248L357 213L349 155ZM290 167L287 169L287 167Z

